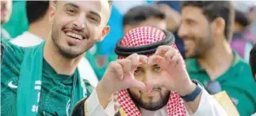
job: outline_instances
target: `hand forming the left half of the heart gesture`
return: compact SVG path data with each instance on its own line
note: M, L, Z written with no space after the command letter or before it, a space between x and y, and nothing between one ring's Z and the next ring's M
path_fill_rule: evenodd
M147 63L147 56L138 54L132 54L125 59L111 62L102 81L96 87L101 106L107 106L112 93L118 90L135 87L141 91L146 91L145 83L137 81L133 76L138 65L143 63Z

